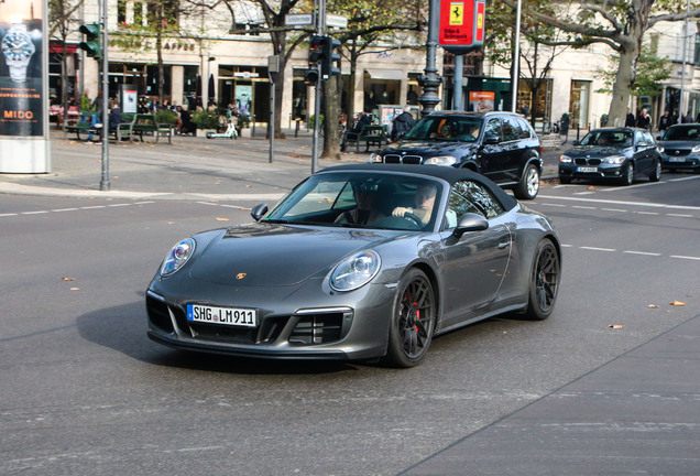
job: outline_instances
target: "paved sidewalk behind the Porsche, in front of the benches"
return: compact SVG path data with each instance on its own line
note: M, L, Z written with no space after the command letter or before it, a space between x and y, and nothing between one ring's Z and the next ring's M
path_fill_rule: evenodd
M75 197L274 201L311 173L313 137L270 142L262 128L253 138L206 139L175 136L173 143L110 142L109 190L100 191L102 147L64 137L52 128L52 172L0 174L0 193ZM567 144L568 145L568 144ZM559 151L545 151L543 178L556 176ZM319 160L318 170L343 163L363 163L369 153L341 153L339 161Z

